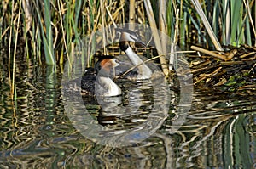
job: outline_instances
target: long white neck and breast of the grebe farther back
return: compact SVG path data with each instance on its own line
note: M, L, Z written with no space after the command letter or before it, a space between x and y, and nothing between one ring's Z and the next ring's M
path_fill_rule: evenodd
M125 54L127 54L133 65L140 65L143 63L143 60L133 52L130 46L125 49ZM145 64L138 66L137 69L139 70L139 79L149 79L152 76L152 70Z

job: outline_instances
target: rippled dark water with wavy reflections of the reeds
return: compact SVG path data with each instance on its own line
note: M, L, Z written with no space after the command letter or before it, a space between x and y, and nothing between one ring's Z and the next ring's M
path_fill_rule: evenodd
M107 107L87 98L84 112L80 102L75 104L78 99L63 101L67 97L61 93L61 67L55 71L24 60L16 69L18 98L12 101L7 59L1 62L0 168L255 168L255 97L234 98L195 88L191 110L180 127L176 121L183 115L177 115L180 95L175 88L166 98L164 93L154 95L154 90L148 90L150 83L123 82L132 92L125 91L123 98ZM67 104L73 110L67 111ZM150 115L155 123L148 122ZM104 140L143 127L150 134L131 131L125 136L134 143L123 147L102 144L124 138L96 144L99 140L93 137L98 133L84 132L86 125L82 130L77 127L88 118L87 125L101 127L99 135Z

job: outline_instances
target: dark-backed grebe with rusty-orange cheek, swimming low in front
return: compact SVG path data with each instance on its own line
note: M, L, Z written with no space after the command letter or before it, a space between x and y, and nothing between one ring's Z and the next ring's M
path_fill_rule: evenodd
M79 84L82 95L118 96L120 87L110 78L111 70L120 65L119 59L104 55L96 62L95 68L87 68L84 75L67 83L67 89L78 91Z

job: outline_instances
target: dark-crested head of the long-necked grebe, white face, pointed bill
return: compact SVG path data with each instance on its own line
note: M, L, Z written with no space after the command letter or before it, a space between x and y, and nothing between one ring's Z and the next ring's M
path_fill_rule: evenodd
M146 46L141 37L137 35L137 32L120 28L116 28L115 30L121 33L119 39L119 47L122 51L125 51L127 48L129 48L129 42L137 42L143 46Z

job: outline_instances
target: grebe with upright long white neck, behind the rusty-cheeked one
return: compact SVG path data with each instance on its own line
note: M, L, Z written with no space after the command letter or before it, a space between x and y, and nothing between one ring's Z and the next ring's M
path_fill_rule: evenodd
M152 76L152 70L148 67L148 65L143 64L143 60L140 59L140 57L135 54L135 52L133 52L129 42L138 42L146 46L145 43L141 40L140 37L137 36L137 33L134 31L120 28L116 28L115 30L121 33L119 39L119 48L125 52L133 65L139 65L137 67L137 79L149 79Z

